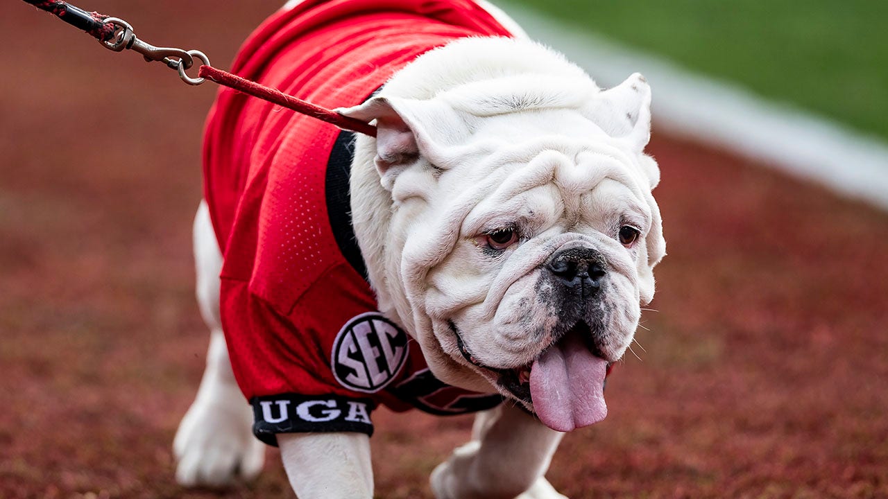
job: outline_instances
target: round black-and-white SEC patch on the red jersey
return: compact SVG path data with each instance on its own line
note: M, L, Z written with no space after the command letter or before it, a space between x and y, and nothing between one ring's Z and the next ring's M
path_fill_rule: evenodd
M407 361L408 336L380 313L361 313L333 342L330 365L337 382L357 392L385 388Z

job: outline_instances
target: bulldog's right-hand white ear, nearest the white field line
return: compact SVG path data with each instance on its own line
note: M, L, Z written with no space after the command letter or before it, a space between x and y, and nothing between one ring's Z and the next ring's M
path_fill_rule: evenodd
M583 112L607 135L622 139L638 153L651 138L651 87L639 73L600 92Z

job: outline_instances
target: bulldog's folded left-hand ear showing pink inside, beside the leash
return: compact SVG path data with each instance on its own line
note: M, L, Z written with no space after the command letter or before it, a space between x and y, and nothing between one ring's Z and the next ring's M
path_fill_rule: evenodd
M377 165L383 186L424 157L436 168L446 167L444 150L467 134L456 111L437 100L374 97L360 106L337 109L341 115L376 121Z

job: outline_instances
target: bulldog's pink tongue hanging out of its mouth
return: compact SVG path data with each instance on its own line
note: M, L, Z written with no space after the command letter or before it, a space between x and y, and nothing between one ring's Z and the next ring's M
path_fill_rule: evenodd
M536 416L552 430L570 432L607 416L607 360L593 355L577 335L552 345L530 369Z

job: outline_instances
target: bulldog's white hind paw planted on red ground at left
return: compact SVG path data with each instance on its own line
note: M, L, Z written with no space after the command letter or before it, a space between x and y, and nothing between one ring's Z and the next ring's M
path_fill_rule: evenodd
M202 390L173 441L176 481L185 487L223 487L238 478L256 478L265 445L253 437L251 425L250 407L236 386Z

